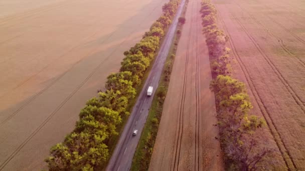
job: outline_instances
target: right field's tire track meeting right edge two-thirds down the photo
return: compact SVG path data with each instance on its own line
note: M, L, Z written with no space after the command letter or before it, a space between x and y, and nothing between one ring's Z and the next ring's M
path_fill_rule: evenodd
M290 95L293 97L295 103L299 105L299 107L303 110L305 113L305 102L301 100L301 98L297 95L297 93L293 90L293 88L290 86L288 81L284 78L282 73L279 71L279 69L275 66L275 64L272 62L270 57L263 51L263 49L260 47L260 45L257 43L257 41L254 39L254 37L248 32L247 28L237 19L235 15L233 15L233 18L238 22L238 24L241 26L241 28L244 30L244 32L247 34L247 36L250 38L250 40L253 42L259 53L264 57L264 59L267 61L269 66L272 68L273 72L277 75L279 80L282 82L282 84L286 87L286 90L290 93Z

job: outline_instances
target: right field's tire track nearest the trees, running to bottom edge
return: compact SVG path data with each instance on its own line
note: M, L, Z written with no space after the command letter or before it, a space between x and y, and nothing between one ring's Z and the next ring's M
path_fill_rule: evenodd
M253 83L252 78L250 77L249 71L247 69L247 67L245 66L244 62L241 60L241 57L236 49L236 46L233 42L233 40L231 39L231 34L229 33L227 26L225 24L225 22L223 21L220 13L219 13L219 9L217 8L217 6L215 5L216 9L217 9L217 15L219 20L221 21L224 31L226 32L226 34L230 37L229 38L229 44L232 48L232 52L234 57L237 59L238 64L242 70L242 72L245 75L246 81L250 87L250 91L252 92L253 96L254 96L254 100L255 102L258 104L259 110L262 113L262 115L264 116L268 128L273 136L273 139L278 147L278 150L281 153L281 156L285 162L285 165L287 166L288 170L295 170L296 169L296 165L294 163L294 161L292 160L292 157L289 153L289 151L287 150L286 145L284 144L282 137L280 136L280 134L278 133L277 127L274 124L273 119L270 116L270 113L268 112L267 107L265 106L265 104L263 103L263 100L261 98L261 96L259 95L257 88L255 87L255 84Z

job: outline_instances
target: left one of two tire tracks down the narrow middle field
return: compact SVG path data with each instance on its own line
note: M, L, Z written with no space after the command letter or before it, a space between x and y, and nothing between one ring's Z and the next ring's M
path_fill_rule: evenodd
M175 160L174 160L174 169L177 170L179 168L179 160L180 160L180 152L181 152L181 144L182 144L182 135L183 135L183 125L184 125L184 103L185 103L185 95L186 95L186 82L188 77L188 65L189 65L189 52L190 52L190 42L191 42L191 35L192 35L192 26L193 26L193 7L194 7L194 1L192 0L192 15L191 15L191 21L190 21L190 30L189 30L189 39L187 44L187 50L186 50L186 62L185 62L185 68L184 68L184 75L183 75L183 88L182 88L182 97L179 107L179 126L178 126L178 136L177 136L177 144L176 144L176 150L175 150ZM176 164L177 161L177 164ZM172 168L172 166L171 166Z

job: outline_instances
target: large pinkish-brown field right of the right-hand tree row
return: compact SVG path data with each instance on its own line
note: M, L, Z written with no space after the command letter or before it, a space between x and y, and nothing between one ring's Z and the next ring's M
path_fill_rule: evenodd
M278 169L305 170L305 2L213 2L230 36L233 76L246 82L253 112L267 121L262 146L276 149Z

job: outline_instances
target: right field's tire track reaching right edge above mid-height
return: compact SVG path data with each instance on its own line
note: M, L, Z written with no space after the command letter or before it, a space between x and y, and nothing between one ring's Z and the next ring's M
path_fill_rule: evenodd
M282 48L284 51L286 51L286 53L288 53L291 57L294 57L294 58L297 60L297 62L299 63L299 65L305 69L305 62L302 61L301 59L299 59L299 57L297 57L295 54L293 54L293 53L286 47L286 44L284 43L284 41L283 41L280 37L274 35L272 32L269 32L269 29L268 29L265 25L263 25L260 21L258 21L258 20L257 20L253 15L251 15L249 12L247 12L246 10L244 10L244 9L240 6L240 4L238 4L238 3L236 3L236 2L235 2L235 4L238 5L239 8L240 8L243 12L247 13L247 14L250 16L250 18L251 18L252 20L254 20L257 24L261 25L266 31L268 31L268 35L271 35L272 37L276 38L276 39L277 39L277 42L279 43L279 45L281 46L281 48Z

